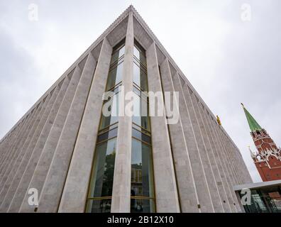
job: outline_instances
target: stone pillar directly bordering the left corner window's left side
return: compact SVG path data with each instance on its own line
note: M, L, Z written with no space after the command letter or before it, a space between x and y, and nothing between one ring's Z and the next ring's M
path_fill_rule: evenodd
M77 136L65 187L60 200L59 212L83 212L87 199L94 148L97 142L102 108L102 95L109 73L112 48L104 38L94 72L92 87L85 107L82 123ZM79 182L79 184L77 184Z

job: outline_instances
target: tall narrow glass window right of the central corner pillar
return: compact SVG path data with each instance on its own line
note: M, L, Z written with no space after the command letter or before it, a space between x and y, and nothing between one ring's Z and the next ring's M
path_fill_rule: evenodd
M131 154L131 212L155 212L153 158L148 116L145 50L136 42L133 56L133 129Z

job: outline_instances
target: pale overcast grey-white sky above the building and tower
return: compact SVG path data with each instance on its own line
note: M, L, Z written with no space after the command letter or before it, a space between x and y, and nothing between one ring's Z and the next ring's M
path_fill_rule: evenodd
M28 19L30 4L38 21ZM130 4L220 116L259 182L240 103L281 145L280 0L0 1L0 137Z

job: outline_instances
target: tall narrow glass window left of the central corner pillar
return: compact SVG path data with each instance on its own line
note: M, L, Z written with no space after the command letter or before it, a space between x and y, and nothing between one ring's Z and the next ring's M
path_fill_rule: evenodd
M118 131L118 96L122 80L124 42L114 48L111 55L106 92L111 92L104 101L109 115L101 113L94 163L89 184L86 212L108 213L111 211L114 165L116 156L116 137ZM109 101L111 104L109 105Z

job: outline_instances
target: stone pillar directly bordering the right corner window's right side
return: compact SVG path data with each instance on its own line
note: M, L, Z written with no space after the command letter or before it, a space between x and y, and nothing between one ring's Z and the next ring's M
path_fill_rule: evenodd
M162 92L158 57L154 42L146 51L146 60L148 65L148 90L154 93ZM163 94L159 98L160 103L164 104ZM150 122L157 212L180 212L165 111L164 116L157 116L157 109L155 110L155 106L151 104L152 101L150 100L150 113L153 109L155 111L155 116L150 116ZM158 106L158 108L160 107Z

